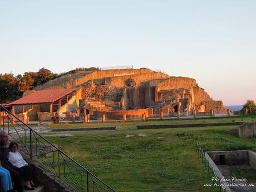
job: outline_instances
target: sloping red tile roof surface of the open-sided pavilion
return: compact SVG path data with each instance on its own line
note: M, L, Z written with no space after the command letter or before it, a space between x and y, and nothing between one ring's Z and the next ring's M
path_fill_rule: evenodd
M29 104L45 104L57 101L63 96L68 95L75 88L61 88L57 90L41 90L24 96L21 99L11 102L9 105L29 105Z

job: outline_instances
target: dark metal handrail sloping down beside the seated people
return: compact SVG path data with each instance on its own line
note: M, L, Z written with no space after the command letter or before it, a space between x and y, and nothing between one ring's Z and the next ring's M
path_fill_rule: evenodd
M45 137L41 136L40 134L38 134L38 132L36 132L35 130L33 130L31 127L29 127L27 124L25 124L23 121L21 121L16 115L12 114L12 112L10 112L9 110L7 110L5 107L3 107L2 105L0 105L0 111L3 111L6 113L5 116L7 116L7 129L8 129L8 134L9 134L9 129L10 126L9 126L9 122L11 122L12 126L13 126L13 129L15 130L14 132L12 132L12 134L16 133L17 136L19 137L19 139L22 141L22 137L24 137L24 147L26 148L29 156L31 157L31 159L36 159L36 157L40 158L41 161L37 160L39 163L41 163L43 166L45 166L43 163L47 164L50 168L53 168L54 172L48 168L47 166L45 166L45 168L47 168L48 170L50 170L53 174L55 174L56 176L58 176L58 178L62 179L63 181L65 181L65 183L67 183L67 185L71 186L71 188L75 189L76 191L81 191L81 192L85 192L85 191L89 191L90 190L90 178L92 180L92 190L90 191L95 191L93 185L95 185L95 183L98 185L98 186L101 186L101 185L104 185L104 187L102 186L101 189L104 190L104 191L111 191L111 192L116 192L113 188L111 188L111 186L107 185L104 181L102 181L101 179L97 178L96 175L92 174L91 171L89 171L88 169L86 169L85 167L83 167L80 163L78 163L76 160L72 159L70 156L68 156L67 154L65 154L65 152L63 152L62 150L58 149L58 147L56 147L54 144L52 144L52 142L48 141L47 139L45 139ZM15 120L13 120L15 119ZM18 125L19 128L23 129L24 131L24 136L21 136L21 130L17 131L16 130L16 127L14 126L15 125ZM23 127L23 126L24 127ZM3 116L3 130L4 130L4 116ZM27 142L26 142L26 131L29 130L29 149L27 147ZM36 139L36 152L35 154L33 154L33 150L32 150L32 137L35 137ZM45 147L48 147L48 149L50 149L51 151L47 151L47 152L43 152L43 153L40 153L40 154L37 154L37 142L39 143L39 139L43 140L44 142L46 142ZM22 141L23 142L23 141ZM42 141L40 141L42 142ZM40 145L40 144L39 144ZM50 145L50 147L48 146ZM40 145L41 146L41 145ZM42 148L42 146L41 146ZM55 170L55 152L58 153L58 170ZM48 154L52 153L53 154L53 165L49 165L48 163L46 163L45 160L42 160L42 156L47 156ZM81 181L78 181L77 178L75 178L75 180L77 181L77 184L74 184L73 181L70 180L70 183L68 183L65 179L62 178L61 176L61 173L60 173L60 166L61 166L61 161L60 161L60 157L62 157L62 160L63 160L63 169L64 169L64 172L65 172L65 165L66 164L70 164L70 165L66 165L68 166L68 169L70 169L71 171L71 174L68 174L68 175L65 175L64 174L64 178L66 180L70 180L67 178L67 176L73 176L73 178L75 178L75 175L76 174L73 174L72 173L72 170L70 168L70 166L73 166L73 168L75 168L77 171L79 171L79 173L81 174ZM50 161L50 159L47 157L48 161ZM81 169L81 170L80 170ZM86 185L87 185L87 188L85 189L84 186L83 186L83 173L86 173ZM96 180L93 180L93 178ZM100 183L100 184L99 184ZM97 191L100 192L99 189L97 189Z

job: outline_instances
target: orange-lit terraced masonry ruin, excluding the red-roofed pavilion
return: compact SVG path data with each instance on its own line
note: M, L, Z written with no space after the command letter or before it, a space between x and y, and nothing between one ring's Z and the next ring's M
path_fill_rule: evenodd
M227 113L222 101L214 101L188 77L172 77L147 68L77 72L56 78L39 90L75 88L81 92L77 110L98 119L127 119L154 114L187 116L194 112ZM76 111L72 111L76 112Z

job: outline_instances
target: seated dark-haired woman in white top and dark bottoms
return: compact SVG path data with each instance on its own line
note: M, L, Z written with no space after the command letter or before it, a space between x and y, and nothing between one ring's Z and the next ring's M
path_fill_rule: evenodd
M35 165L28 163L23 159L22 155L18 152L18 144L16 142L11 142L9 145L9 161L17 168L23 170L23 179L25 180L24 189L34 190L37 187L33 180L35 180Z

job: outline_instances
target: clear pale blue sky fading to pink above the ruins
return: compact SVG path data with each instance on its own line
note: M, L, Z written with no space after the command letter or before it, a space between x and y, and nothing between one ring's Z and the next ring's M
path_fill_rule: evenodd
M134 65L256 101L256 1L0 0L0 73Z

